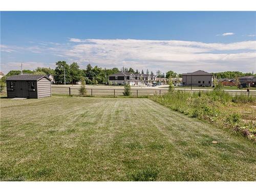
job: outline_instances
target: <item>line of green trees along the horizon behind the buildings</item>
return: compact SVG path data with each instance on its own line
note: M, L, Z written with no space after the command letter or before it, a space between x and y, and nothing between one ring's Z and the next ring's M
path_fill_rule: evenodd
M80 69L80 66L77 62L73 62L70 65L66 61L57 61L55 69L51 68L41 68L38 67L35 70L23 70L24 74L51 74L54 76L55 83L64 83L66 78L66 83L75 83L80 81L82 77L85 78L86 84L107 84L108 83L108 76L119 71L122 72L130 72L130 73L141 73L141 74L151 74L154 73L146 69L144 72L134 70L133 68L125 68L122 67L121 69L112 68L112 69L102 69L101 67L95 66L92 67L90 64L87 65L86 69ZM6 77L12 75L18 75L21 72L19 70L12 70L4 76L1 81L5 81ZM252 75L252 73L242 73L239 71L225 71L225 72L218 72L212 73L216 78L238 78L241 76ZM178 74L174 71L168 71L166 74L162 73L160 70L156 71L156 77L161 78L181 78L182 74Z

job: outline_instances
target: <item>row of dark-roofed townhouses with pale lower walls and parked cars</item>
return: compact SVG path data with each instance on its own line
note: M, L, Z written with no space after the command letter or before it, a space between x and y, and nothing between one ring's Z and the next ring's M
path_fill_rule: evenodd
M130 84L130 86L151 85L156 82L167 84L167 78L158 78L156 75L130 72L118 72L109 76L112 84Z

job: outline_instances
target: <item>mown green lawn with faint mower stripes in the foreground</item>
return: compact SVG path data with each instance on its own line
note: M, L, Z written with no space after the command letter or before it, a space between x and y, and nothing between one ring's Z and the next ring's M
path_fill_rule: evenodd
M255 143L147 98L0 102L1 180L256 178Z

